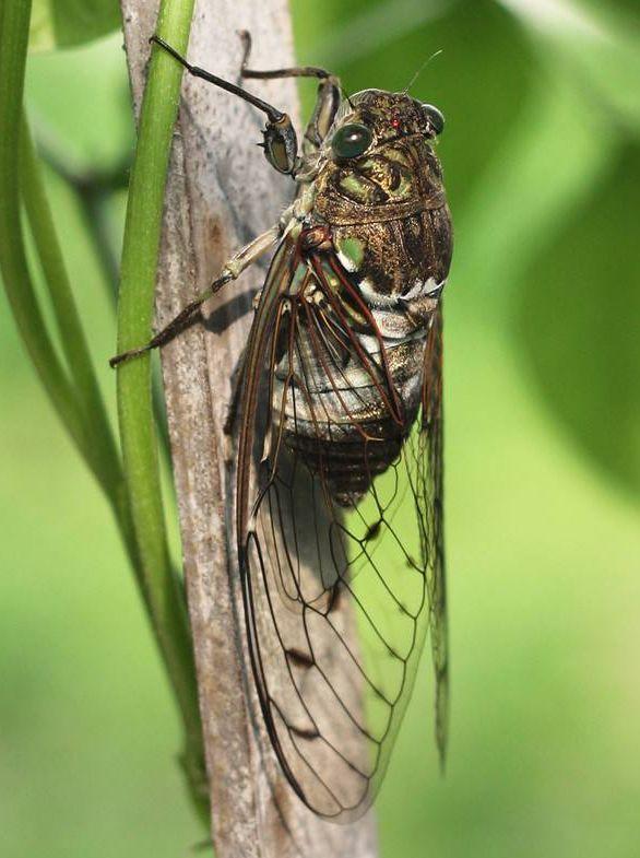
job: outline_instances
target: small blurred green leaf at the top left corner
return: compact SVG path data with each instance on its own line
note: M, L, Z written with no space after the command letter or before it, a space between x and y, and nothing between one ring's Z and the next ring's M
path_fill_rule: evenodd
M31 50L84 45L120 26L116 0L34 0Z

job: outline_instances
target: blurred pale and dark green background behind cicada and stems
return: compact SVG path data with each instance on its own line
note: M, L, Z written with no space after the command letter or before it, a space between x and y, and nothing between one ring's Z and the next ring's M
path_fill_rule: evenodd
M293 11L298 58L349 91L402 89L442 50L413 93L448 119L439 153L457 239L451 743L442 779L425 662L377 806L382 855L636 858L637 0L294 0ZM27 74L111 402L108 256L105 269L85 219L117 251L133 143L120 46L116 34L35 55ZM106 183L87 192L96 174ZM203 835L130 569L0 303L0 854L185 855Z

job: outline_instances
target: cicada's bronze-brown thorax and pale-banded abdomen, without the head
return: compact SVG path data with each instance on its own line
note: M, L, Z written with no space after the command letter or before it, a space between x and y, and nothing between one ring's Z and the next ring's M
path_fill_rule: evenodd
M277 346L274 422L332 499L353 506L396 460L418 413L451 227L438 161L419 136L355 166L328 164L315 191Z

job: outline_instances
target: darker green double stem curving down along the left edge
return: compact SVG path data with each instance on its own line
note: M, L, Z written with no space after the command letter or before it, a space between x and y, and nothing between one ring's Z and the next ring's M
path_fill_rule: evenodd
M9 303L22 340L62 424L82 457L97 477L116 512L132 562L137 562L131 515L123 475L104 404L91 371L80 319L54 230L51 213L40 184L40 174L22 127L22 93L31 5L7 3L0 21L0 266ZM22 151L21 151L22 150ZM27 266L20 218L20 177L24 183L36 249L61 326L62 342L78 390L67 376L47 332ZM74 345L75 343L75 345ZM76 365L81 364L81 369ZM84 402L81 397L84 396Z

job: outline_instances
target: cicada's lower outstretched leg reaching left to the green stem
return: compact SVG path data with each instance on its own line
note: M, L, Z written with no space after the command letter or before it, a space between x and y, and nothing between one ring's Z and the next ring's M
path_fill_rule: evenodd
M208 301L212 295L215 295L216 292L218 292L232 280L236 280L246 268L256 262L256 260L259 259L263 254L265 254L268 250L271 250L273 245L280 238L281 234L282 224L277 224L242 247L242 249L233 256L225 265L217 280L214 280L209 289L199 295L195 301L192 301L185 307L183 310L178 313L178 315L171 319L171 321L165 328L163 328L162 331L158 331L155 337L146 343L146 345L141 345L138 349L130 349L128 352L117 354L115 357L111 357L109 364L111 366L118 366L118 364L129 361L131 357L138 357L151 349L157 349L161 345L165 345L167 342L173 340L174 337L177 337L181 331L186 330L200 316L200 312L204 302Z

